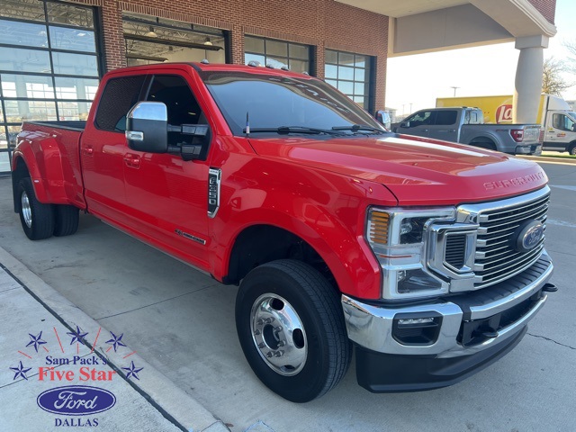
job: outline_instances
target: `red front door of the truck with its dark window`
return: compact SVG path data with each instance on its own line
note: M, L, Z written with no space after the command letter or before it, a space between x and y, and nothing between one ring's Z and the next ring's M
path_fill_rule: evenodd
M206 124L184 76L153 76L145 100L165 103L170 125ZM186 139L191 138L168 132L171 146ZM192 258L196 266L206 267L208 162L131 149L129 157L124 166L126 199L139 231L171 255L188 262Z

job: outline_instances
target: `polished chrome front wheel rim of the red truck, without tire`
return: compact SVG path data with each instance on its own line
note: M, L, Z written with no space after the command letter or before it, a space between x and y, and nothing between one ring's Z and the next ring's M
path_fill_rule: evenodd
M266 365L277 374L302 371L308 356L302 320L289 302L276 294L257 298L250 313L252 340Z

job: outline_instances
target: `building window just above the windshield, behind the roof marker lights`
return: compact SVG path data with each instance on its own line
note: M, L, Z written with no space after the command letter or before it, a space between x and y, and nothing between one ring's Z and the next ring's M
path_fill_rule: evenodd
M300 43L246 36L244 63L257 61L262 66L288 67L294 72L311 73L311 47Z

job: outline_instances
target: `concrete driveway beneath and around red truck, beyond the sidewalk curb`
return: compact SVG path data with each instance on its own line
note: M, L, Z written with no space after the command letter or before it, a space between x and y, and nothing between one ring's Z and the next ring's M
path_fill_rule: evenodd
M284 401L257 380L242 355L235 287L89 215L81 216L74 236L31 242L12 211L9 178L0 179L0 242L98 325L123 333L140 357L234 432L253 426L276 432L576 430L576 166L542 166L553 190L546 247L560 290L509 355L430 392L366 392L356 384L353 362L320 400Z

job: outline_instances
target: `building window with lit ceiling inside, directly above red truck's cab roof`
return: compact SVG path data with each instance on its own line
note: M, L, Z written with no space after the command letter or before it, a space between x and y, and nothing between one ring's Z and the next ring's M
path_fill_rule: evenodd
M226 63L224 31L142 14L122 14L128 66L168 61Z

